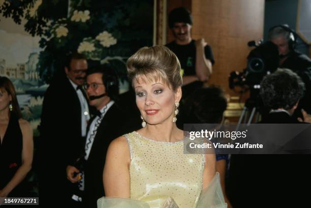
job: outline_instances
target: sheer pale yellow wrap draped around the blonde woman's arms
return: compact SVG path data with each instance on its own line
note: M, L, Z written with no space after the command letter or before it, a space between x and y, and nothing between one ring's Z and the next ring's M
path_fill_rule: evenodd
M159 206L153 206L157 201ZM153 205L152 205L153 204ZM98 208L178 208L174 199L170 196L159 196L148 201L139 201L127 198L102 197L97 201ZM226 208L220 176L216 172L208 187L202 190L196 208Z

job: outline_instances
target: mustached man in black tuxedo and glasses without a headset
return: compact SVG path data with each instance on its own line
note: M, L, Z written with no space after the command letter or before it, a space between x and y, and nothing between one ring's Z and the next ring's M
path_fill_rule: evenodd
M87 61L82 54L67 57L65 73L54 77L44 95L39 141L40 204L71 204L72 184L66 179L66 167L78 157L89 120L88 102L82 84ZM51 197L58 198L51 200Z

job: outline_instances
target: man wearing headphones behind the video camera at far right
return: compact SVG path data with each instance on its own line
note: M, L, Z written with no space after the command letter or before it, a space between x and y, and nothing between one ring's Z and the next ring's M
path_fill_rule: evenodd
M305 54L295 50L297 34L288 25L276 25L269 29L268 39L278 48L279 68L287 68L297 73L305 83L305 96L300 100L298 111L294 117L300 115L303 108L311 112L311 60Z

